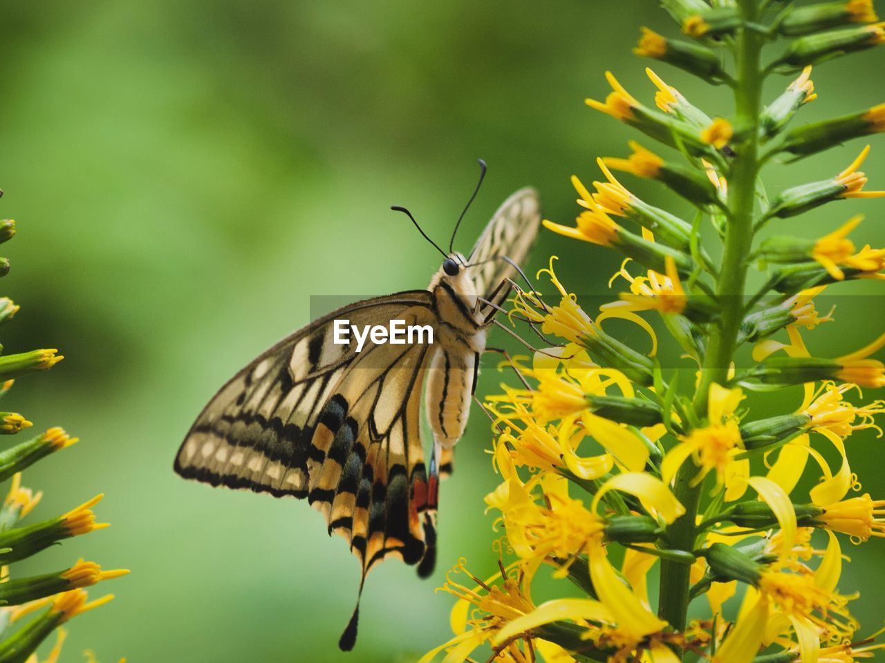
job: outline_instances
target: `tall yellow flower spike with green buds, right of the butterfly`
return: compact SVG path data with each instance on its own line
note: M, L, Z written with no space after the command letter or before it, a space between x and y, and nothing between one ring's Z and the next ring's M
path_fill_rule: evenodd
M486 403L499 572L480 579L459 562L442 588L458 598L455 636L421 663L848 662L885 646L852 616L858 593L840 587L846 542L885 537L885 499L861 491L849 461L856 431L882 433L885 400L862 390L885 386L873 358L885 334L836 357L805 342L834 322L820 293L885 278L885 248L849 239L860 217L817 239L781 234L808 210L885 192L866 189L868 146L831 179L771 199L760 179L766 164L885 131L885 106L791 125L817 97L812 65L885 42L883 24L871 0L661 4L685 36L643 28L635 52L732 88L735 115L708 114L650 69L653 104L612 73L604 101L587 101L670 152L643 139L597 159L598 181L572 179L575 224L544 222L584 250L620 253L609 285L625 292L591 314L551 259L537 276L549 293L514 293L512 323L551 347L509 360L519 384ZM792 81L764 105L763 83L781 73ZM691 213L644 201L615 172L656 180ZM612 318L650 343L627 342ZM683 365L658 355L662 333ZM772 403L787 411L771 415ZM535 596L545 569L542 591L557 598ZM706 612L689 621L694 601L692 614Z

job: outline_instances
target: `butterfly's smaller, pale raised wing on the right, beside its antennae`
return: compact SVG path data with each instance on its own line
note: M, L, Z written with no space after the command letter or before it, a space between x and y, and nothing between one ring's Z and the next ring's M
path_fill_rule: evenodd
M476 292L496 303L504 301L506 291L501 284L514 278L512 264L499 260L503 256L521 266L532 248L541 225L541 202L534 188L519 189L505 200L486 225L467 263Z

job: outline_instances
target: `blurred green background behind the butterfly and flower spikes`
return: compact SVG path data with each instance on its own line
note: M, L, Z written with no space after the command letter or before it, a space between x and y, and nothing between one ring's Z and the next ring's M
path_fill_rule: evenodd
M110 530L42 553L33 568L78 555L133 573L93 590L112 606L78 618L65 660L91 647L130 661L410 660L449 636L451 602L433 588L458 556L477 573L495 564L482 497L496 483L481 416L458 446L443 486L438 571L374 571L358 649L335 643L358 582L357 564L304 503L212 490L173 475L190 423L227 377L308 322L310 296L425 286L439 258L404 217L404 204L437 240L448 237L473 187L466 250L498 202L539 187L547 215L569 223L568 177L598 178L596 155L626 153L632 136L589 110L613 69L650 103L644 63L632 57L640 25L673 33L657 4L525 0L389 3L303 0L46 0L4 6L0 20L0 214L19 235L4 245L3 293L22 305L4 327L8 352L59 347L65 362L22 379L14 409L44 429L63 425L81 444L26 473L47 491L39 514L106 492ZM801 121L882 101L882 53L815 72L820 101ZM710 90L658 68L712 114L731 111ZM787 83L775 80L769 96ZM648 141L646 141L648 142ZM832 177L863 143L789 168L768 169L773 192ZM885 145L865 170L885 188ZM625 178L627 181L628 178ZM628 182L656 202L685 205ZM818 236L875 202L840 202L781 222ZM855 233L881 245L881 212ZM564 256L560 275L580 293L604 293L616 255L544 233L532 266ZM873 283L843 293L873 293ZM812 350L842 354L882 328L872 296L846 298L838 326ZM852 309L853 307L853 309ZM481 392L499 378L483 378ZM791 400L766 399L765 411ZM885 493L885 450L850 440L865 490ZM846 546L855 611L881 625L882 546Z

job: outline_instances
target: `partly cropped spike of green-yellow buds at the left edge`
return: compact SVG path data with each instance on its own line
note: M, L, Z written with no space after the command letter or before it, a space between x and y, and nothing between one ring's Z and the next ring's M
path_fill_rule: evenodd
M12 239L14 234L15 222L0 221L0 242ZM9 261L0 258L0 276L7 271ZM8 321L18 310L12 300L0 299L0 323ZM19 377L48 370L62 359L55 349L0 355L0 397L7 397ZM0 422L0 434L4 435L16 435L33 426L17 412L0 413ZM0 481L9 482L9 490L0 504L0 661L3 663L37 663L37 648L56 631L55 646L41 659L43 663L55 663L65 640L62 625L113 598L107 594L89 601L86 588L128 573L125 569L103 570L95 562L85 560L41 575L19 577L10 570L15 562L26 560L50 545L107 527L107 523L96 522L92 510L102 495L57 517L28 522L34 520L28 516L38 506L42 492L22 485L22 470L76 442L77 438L62 429L50 428L0 450Z

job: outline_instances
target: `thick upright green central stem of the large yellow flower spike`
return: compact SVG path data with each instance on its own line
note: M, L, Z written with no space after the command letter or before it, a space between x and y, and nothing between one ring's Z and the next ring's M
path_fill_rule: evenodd
M739 0L743 19L759 19L758 0ZM746 256L753 241L756 179L758 177L758 124L762 95L761 51L765 37L755 30L744 29L737 42L737 80L735 107L737 126L747 136L736 148L729 172L730 212L726 226L722 269L717 279L716 293L720 301L720 326L709 336L704 355L704 367L695 393L695 411L699 417L707 412L707 394L712 383L724 385L728 368L735 356L737 337L743 321L743 293L747 277ZM693 485L697 469L686 461L676 474L673 492L685 507L685 514L673 522L667 531L670 547L691 552L696 547L695 525L700 504L702 484ZM685 629L689 608L689 567L662 560L660 603L658 614L674 629Z

